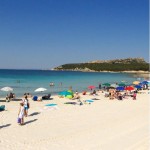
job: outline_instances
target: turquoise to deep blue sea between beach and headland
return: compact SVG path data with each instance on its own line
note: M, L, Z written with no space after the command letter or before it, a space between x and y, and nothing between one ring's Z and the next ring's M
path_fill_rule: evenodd
M70 88L73 91L82 92L88 90L88 86L90 85L98 88L99 84L103 83L126 82L127 84L131 84L137 79L144 80L129 73L1 69L0 89L11 87L16 97L20 97L24 93L41 95L41 92L35 92L35 90L43 87L47 90L42 92L42 94L51 93L52 95L56 95L60 91ZM0 97L5 97L6 94L7 92L0 90Z

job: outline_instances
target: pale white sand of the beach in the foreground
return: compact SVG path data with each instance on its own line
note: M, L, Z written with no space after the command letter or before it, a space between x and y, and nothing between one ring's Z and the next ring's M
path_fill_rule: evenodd
M30 100L24 126L17 124L19 101L0 102L6 105L0 112L0 150L148 150L149 96L118 101L100 95L100 100L82 106L64 104L71 100L58 96ZM58 108L44 110L48 103Z

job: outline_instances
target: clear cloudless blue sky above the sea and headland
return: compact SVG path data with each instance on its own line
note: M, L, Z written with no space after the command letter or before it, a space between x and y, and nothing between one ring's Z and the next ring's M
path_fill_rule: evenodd
M142 57L148 0L0 0L0 68Z

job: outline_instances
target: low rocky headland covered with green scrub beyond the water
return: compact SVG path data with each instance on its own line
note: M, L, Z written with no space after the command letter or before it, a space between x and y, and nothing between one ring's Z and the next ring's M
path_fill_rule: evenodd
M54 70L70 71L149 71L149 63L143 58L126 58L114 60L96 60L86 63L64 64L54 68Z

